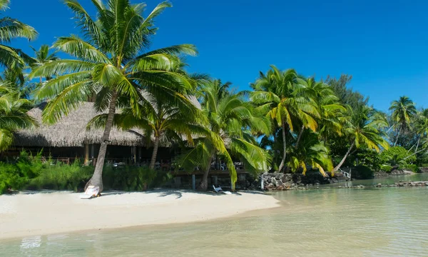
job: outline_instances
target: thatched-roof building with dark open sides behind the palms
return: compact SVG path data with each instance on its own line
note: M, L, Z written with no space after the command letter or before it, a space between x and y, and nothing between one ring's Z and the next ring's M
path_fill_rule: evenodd
M4 154L13 156L23 149L31 152L43 149L46 157L51 156L61 161L69 162L79 158L88 162L96 158L103 130L86 129L88 122L99 114L93 108L93 103L83 103L54 125L45 125L41 122L45 106L46 103L40 104L28 112L30 116L39 121L40 126L17 131L13 147ZM138 129L121 131L113 128L107 159L126 163L144 162L150 158L151 151L148 147L150 147L150 142L143 136L143 131ZM160 158L170 159L170 149L161 148Z

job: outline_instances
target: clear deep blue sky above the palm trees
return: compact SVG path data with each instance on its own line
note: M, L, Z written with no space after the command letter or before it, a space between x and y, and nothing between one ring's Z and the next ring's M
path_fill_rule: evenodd
M34 26L39 38L14 46L31 53L29 45L78 33L61 1L31 2L11 0L6 15ZM159 2L146 1L150 10ZM350 85L370 96L377 109L387 110L402 95L428 108L428 1L172 2L157 19L153 47L195 44L200 55L188 59L190 71L239 89L248 89L270 64L317 79L352 74ZM88 0L81 3L90 6Z

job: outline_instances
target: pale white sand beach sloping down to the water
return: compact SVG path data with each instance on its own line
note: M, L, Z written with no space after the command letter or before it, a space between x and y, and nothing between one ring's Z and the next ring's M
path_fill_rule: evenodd
M208 221L279 206L275 198L260 192L106 192L90 200L79 196L80 193L71 192L0 196L0 239Z

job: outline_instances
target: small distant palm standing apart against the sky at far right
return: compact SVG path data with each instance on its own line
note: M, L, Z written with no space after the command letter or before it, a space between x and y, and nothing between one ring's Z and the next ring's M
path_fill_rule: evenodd
M416 115L417 111L413 101L407 96L400 96L398 101L393 101L389 111L392 111L392 120L395 122L396 129L398 129L397 138L394 142L395 146L400 133L409 129L410 119Z

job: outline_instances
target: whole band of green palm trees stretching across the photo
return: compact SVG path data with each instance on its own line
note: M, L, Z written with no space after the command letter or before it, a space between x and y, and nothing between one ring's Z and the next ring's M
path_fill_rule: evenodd
M178 156L175 167L201 169L203 190L208 188L212 164L219 161L233 183L235 161L255 173L315 170L327 176L358 149L388 148L391 130L397 132L394 144L414 131L416 151L425 145L427 111L416 111L409 99L402 98L392 104L388 119L346 89L350 77L316 81L294 69L271 66L260 72L251 84L253 90L235 92L230 82L188 73L184 57L197 55L195 46L154 50L151 46L158 29L155 19L171 7L168 1L147 16L146 4L129 0L91 0L96 14L77 0L64 3L73 11L82 36L61 36L52 46L33 49L34 58L4 44L16 37L34 39L36 31L16 19L1 19L0 64L5 69L0 85L0 151L13 143L16 129L38 125L26 114L31 102L46 101L42 121L54 124L84 101L93 101L101 114L88 128L103 128L103 137L86 186L103 190L103 164L113 126L144 131L153 146L152 169L161 145L185 146L188 150ZM7 4L0 1L0 8ZM59 53L71 58L59 59ZM37 81L31 101L19 91L26 69L30 70L26 81Z

